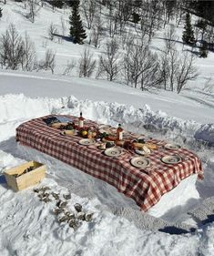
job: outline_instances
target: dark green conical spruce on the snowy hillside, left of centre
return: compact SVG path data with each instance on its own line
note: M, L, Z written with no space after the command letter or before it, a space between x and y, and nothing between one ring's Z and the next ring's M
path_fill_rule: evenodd
M75 44L83 44L83 40L87 38L86 30L82 25L82 20L79 15L79 0L73 5L72 15L69 16L70 36Z

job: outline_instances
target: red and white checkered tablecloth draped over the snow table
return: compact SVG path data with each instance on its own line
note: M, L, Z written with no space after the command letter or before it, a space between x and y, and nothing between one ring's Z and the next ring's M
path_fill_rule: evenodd
M16 139L22 145L36 148L97 179L107 181L119 192L135 200L143 211L155 205L162 195L175 188L182 179L195 173L203 174L199 158L186 148L179 148L177 154L188 159L173 165L160 160L166 155L174 155L173 150L154 150L148 155L153 166L148 173L130 164L134 153L122 154L117 158L107 157L96 146L78 144L79 137L62 136L59 129L48 127L44 121L48 117L52 116L35 118L21 124L16 128ZM91 125L97 126L95 122L88 120L88 126Z

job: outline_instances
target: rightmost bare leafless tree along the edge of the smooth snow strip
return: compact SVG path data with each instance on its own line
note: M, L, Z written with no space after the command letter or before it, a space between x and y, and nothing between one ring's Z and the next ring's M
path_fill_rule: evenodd
M184 56L179 58L179 66L177 69L177 92L180 93L181 89L185 87L190 80L198 77L197 68L194 66L194 56L185 53Z

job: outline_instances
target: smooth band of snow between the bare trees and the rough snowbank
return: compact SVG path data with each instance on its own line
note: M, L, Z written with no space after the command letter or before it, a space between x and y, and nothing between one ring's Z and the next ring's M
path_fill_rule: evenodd
M37 73L0 73L0 93L2 95L24 93L29 97L67 97L78 99L118 102L135 108L146 104L154 111L164 111L169 116L192 119L199 123L214 122L214 97L203 93L184 91L181 95L171 92L142 92L132 87L109 83L96 79L50 76ZM62 90L59 90L62 87ZM193 98L191 98L193 97Z

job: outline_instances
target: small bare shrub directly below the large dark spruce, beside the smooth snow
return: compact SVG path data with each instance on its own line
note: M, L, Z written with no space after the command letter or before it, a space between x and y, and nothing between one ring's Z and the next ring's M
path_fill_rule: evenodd
M96 60L89 49L85 48L83 55L79 60L79 77L91 77L96 67Z

